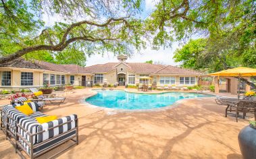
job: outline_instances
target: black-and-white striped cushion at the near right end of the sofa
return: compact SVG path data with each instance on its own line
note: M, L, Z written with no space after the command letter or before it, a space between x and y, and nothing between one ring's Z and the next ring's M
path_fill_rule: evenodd
M67 117L62 117L54 121L49 121L48 123L43 123L37 127L37 132L48 130L51 127L55 127L61 123L66 123L67 121L72 121L71 123L61 125L60 127L56 127L54 129L51 129L49 131L45 131L43 133L40 133L37 135L37 141L40 143L41 141L45 141L46 139L50 139L51 137L54 137L56 135L59 135L61 133L64 133L74 127L76 127L76 121L77 115L70 115Z

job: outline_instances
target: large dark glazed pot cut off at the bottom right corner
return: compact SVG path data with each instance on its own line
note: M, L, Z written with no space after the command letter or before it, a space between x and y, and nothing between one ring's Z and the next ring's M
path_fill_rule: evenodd
M238 143L243 158L256 158L256 121L250 121L238 135Z

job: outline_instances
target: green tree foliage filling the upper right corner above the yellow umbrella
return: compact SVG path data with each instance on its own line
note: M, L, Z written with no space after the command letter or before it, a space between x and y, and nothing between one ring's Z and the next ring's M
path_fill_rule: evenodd
M176 50L182 67L209 72L230 67L256 67L256 3L245 1L161 0L145 22L155 34L153 48L194 37Z

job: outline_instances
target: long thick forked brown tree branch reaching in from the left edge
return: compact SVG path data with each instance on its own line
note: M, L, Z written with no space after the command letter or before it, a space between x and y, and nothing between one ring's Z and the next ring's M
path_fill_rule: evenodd
M63 49L65 49L68 46L68 44L78 41L78 40L84 40L84 41L90 41L90 42L101 41L103 43L105 43L105 41L107 41L107 40L118 40L118 38L116 38L116 37L95 38L93 36L88 36L88 35L86 36L86 34L68 39L68 35L72 31L72 29L76 28L77 26L82 26L82 24L88 24L88 25L97 26L97 27L105 27L105 26L113 24L113 22L123 22L124 24L126 24L126 26L130 27L130 24L125 20L125 18L110 18L103 24L97 24L95 22L90 22L90 21L84 20L82 22L77 22L77 23L71 24L68 27L68 29L66 30L66 32L64 32L59 44L53 45L53 43L50 42L50 45L42 44L42 45L36 45L36 46L28 46L24 49L16 51L16 53L8 55L7 57L0 57L0 63L6 63L9 61L12 61L12 60L22 57L23 55L26 55L26 53L30 53L32 51L43 51L43 50L45 50L45 51L63 51ZM41 33L41 34L43 34L43 33Z

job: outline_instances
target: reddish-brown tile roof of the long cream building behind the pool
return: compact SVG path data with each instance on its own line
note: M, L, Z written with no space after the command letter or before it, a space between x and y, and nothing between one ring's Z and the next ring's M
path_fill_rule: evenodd
M64 73L106 73L116 69L119 63L97 64L88 67L80 67L78 65L57 65L47 63L45 61L25 61L24 59L16 59L14 61L1 64L0 67L22 67L30 69L45 69L49 71L59 71ZM203 75L198 71L190 69L182 69L171 65L154 65L151 63L125 63L130 71L134 73L149 73L149 74L168 74L168 75Z

